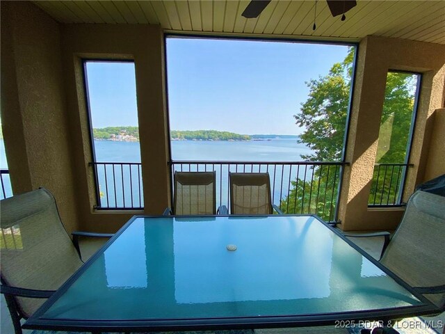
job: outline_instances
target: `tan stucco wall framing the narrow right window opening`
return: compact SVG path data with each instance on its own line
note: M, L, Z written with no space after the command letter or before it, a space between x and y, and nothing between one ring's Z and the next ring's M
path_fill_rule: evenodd
M346 149L343 188L339 202L343 230L387 230L396 228L403 209L369 209L368 197L378 145L380 118L388 70L423 73L404 200L423 180L429 143L428 119L442 106L445 46L394 38L369 36L359 45L357 77Z

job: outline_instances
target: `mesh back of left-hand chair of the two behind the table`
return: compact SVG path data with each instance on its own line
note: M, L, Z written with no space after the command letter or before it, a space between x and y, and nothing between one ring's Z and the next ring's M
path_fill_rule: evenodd
M215 172L175 172L173 214L216 214Z

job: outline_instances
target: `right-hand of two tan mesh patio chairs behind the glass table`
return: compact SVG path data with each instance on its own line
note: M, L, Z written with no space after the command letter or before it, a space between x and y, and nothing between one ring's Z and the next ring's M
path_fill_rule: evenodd
M229 173L231 214L282 214L270 198L269 173Z

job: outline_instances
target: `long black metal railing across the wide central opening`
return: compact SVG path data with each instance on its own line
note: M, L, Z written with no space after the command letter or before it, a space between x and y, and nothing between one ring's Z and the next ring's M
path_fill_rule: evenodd
M170 161L172 173L215 171L217 207L229 207L229 171L268 172L273 204L286 214L318 214L325 221L337 219L344 165L312 161Z

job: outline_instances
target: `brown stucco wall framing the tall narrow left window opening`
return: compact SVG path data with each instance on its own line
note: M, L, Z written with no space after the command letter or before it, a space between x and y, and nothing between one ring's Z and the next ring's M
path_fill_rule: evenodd
M170 203L163 32L159 26L66 24L63 67L82 228L115 232L132 214L162 214ZM95 205L82 58L133 59L140 132L144 212L100 212ZM124 117L124 116L122 116Z

